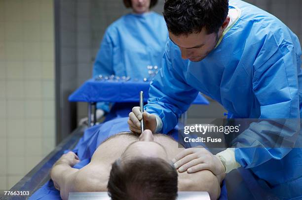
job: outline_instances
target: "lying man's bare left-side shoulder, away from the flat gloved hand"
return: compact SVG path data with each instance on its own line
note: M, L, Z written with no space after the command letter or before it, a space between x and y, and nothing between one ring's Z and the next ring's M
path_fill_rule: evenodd
M74 192L106 192L109 176L102 166L89 163L76 173Z

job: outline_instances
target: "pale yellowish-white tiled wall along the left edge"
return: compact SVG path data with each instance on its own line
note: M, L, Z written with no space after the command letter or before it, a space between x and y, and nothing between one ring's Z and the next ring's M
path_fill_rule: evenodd
M52 0L0 0L0 190L55 146Z

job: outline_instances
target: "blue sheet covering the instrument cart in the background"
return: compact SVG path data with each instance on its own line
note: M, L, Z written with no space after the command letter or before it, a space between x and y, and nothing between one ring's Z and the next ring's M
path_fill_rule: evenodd
M95 81L89 79L69 96L72 102L139 102L139 92L144 91L144 101L149 98L149 82L128 81ZM193 104L205 104L209 102L200 93Z

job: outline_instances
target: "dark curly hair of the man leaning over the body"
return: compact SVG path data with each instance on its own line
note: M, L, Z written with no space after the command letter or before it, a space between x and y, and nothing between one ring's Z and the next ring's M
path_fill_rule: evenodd
M174 35L217 33L228 14L228 0L166 0L163 16Z

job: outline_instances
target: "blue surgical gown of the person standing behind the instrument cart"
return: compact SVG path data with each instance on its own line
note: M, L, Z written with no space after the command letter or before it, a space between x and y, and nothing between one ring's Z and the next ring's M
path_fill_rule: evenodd
M97 54L93 77L98 75L148 78L147 66L161 67L168 39L163 17L155 12L127 14L108 27ZM108 103L98 108L109 112Z

